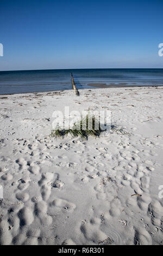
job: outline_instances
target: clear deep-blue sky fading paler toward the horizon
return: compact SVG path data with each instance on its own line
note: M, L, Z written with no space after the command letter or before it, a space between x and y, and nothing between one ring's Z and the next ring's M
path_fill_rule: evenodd
M162 0L0 0L0 70L163 68Z

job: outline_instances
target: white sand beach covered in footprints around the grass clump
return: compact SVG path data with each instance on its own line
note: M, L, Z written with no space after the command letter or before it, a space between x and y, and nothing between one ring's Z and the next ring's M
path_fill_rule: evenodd
M162 245L162 89L1 95L0 244ZM127 133L51 138L64 106L110 110Z

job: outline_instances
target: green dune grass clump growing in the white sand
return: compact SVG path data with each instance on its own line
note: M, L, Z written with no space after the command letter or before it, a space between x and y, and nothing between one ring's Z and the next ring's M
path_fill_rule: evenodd
M91 123L91 128L90 128ZM88 138L89 135L92 136L100 136L102 132L99 118L95 116L89 116L83 117L80 121L77 123L74 123L72 128L69 129L60 129L57 127L55 130L52 130L51 136L52 137L64 137L67 134L71 134L74 137L82 137L82 138Z

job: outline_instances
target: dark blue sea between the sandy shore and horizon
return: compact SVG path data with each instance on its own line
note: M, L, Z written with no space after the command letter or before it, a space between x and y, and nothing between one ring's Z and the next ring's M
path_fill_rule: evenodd
M0 71L0 94L78 89L163 86L163 69L50 69ZM91 86L90 86L91 85Z

